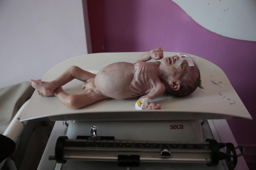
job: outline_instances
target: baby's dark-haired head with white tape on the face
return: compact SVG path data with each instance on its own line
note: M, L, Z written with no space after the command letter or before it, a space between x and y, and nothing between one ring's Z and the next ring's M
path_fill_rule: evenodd
M179 55L179 54L178 54ZM162 82L166 91L174 96L187 96L199 85L200 72L191 57L180 55L166 57L162 60L159 69L162 73ZM185 60L185 61L184 61Z

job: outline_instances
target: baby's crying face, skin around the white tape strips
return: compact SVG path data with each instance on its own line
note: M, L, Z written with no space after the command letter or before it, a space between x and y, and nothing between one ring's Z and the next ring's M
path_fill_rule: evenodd
M162 78L167 82L169 80L179 80L179 78L184 74L189 72L192 75L196 75L197 67L189 67L187 61L183 61L182 64L176 69L173 65L179 60L178 56L165 57L162 59L159 69L162 73Z

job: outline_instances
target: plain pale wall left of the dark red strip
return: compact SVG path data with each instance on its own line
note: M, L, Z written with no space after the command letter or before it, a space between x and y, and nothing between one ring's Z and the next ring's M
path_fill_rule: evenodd
M41 79L82 54L87 44L81 0L0 1L0 88Z

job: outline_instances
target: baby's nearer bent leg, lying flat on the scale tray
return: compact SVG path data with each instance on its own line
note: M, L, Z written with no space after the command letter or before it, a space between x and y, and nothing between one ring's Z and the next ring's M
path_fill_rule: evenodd
M96 101L108 99L109 97L102 95L99 91L93 89L87 90L84 94L68 95L62 88L57 88L54 95L59 98L61 103L71 109L78 109Z

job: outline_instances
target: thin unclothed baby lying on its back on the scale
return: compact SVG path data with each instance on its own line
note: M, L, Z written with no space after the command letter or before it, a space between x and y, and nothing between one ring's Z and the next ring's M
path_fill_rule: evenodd
M134 63L117 62L101 69L97 75L71 66L51 82L30 80L40 96L57 96L67 107L78 109L99 100L127 99L141 96L135 107L139 110L161 109L160 104L147 104L164 91L175 96L191 94L199 85L200 73L194 61L179 54L163 58L161 47L150 50ZM187 59L187 60L186 60ZM185 62L182 62L186 60ZM68 95L61 86L73 79L85 82L85 93Z

